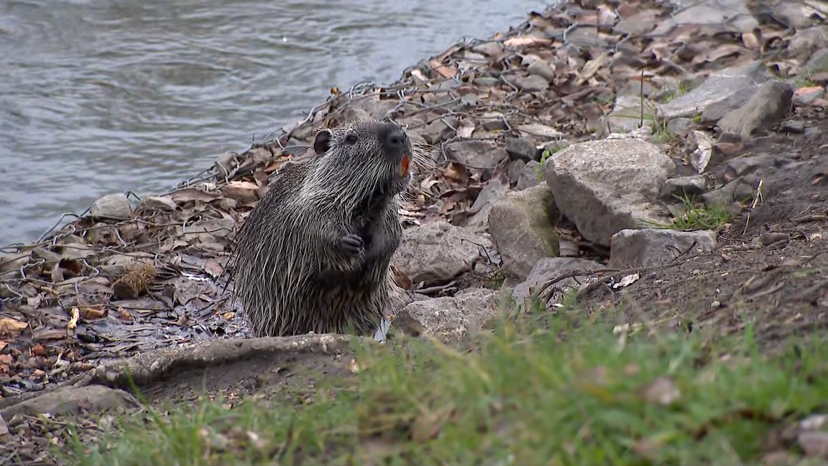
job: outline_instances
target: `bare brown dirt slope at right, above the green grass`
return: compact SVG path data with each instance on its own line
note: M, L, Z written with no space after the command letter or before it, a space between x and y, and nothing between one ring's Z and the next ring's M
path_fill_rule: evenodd
M633 272L640 278L619 289L598 287L581 303L621 309L622 325L706 328L713 335L739 332L753 321L759 342L771 346L826 328L828 120L809 125L816 136L773 133L745 144L744 153L792 164L763 178L763 200L720 234L712 255L613 273L616 280Z

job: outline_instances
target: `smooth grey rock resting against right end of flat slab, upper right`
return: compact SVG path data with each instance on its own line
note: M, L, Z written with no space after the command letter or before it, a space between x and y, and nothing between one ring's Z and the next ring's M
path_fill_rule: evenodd
M791 85L785 82L763 83L746 104L724 115L719 126L723 131L739 133L748 139L759 129L767 129L785 118L791 110L792 95Z

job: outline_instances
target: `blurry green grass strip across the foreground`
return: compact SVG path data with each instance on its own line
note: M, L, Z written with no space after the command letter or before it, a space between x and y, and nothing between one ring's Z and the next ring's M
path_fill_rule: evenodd
M201 400L118 417L100 438L70 442L69 461L758 464L770 430L828 400L825 343L763 357L749 326L710 343L646 325L619 335L614 324L611 313L536 310L504 318L473 351L410 339L359 347L353 380L320 381L311 402ZM657 381L663 389L644 395Z

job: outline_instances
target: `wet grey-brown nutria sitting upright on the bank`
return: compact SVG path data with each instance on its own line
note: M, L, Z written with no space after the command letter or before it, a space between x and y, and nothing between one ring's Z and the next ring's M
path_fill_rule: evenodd
M321 129L307 155L238 232L235 293L257 336L373 333L394 286L412 143L390 120L362 120Z

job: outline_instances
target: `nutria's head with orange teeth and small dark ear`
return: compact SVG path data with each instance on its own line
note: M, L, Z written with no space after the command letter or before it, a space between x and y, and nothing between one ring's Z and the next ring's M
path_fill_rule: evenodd
M359 120L321 129L314 138L306 194L344 204L386 198L411 184L415 154L405 129L388 119Z

